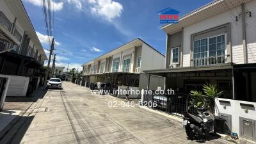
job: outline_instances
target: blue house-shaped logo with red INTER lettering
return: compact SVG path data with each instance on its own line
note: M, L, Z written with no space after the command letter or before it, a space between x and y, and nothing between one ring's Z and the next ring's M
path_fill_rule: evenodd
M165 8L158 12L160 15L160 23L161 24L177 24L179 22L179 14L180 12L174 10L170 7Z

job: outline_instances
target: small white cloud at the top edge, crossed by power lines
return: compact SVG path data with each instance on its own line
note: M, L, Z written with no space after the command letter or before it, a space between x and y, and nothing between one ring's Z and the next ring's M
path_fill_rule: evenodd
M35 6L42 6L42 0L24 0L28 3L34 4ZM48 2L45 1L46 8L48 8ZM63 2L54 2L51 0L51 9L54 11L62 10Z

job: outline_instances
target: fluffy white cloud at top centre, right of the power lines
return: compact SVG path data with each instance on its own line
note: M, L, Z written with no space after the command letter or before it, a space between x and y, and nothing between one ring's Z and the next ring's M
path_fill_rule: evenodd
M88 0L93 14L104 17L108 21L120 17L123 11L122 4L113 0Z

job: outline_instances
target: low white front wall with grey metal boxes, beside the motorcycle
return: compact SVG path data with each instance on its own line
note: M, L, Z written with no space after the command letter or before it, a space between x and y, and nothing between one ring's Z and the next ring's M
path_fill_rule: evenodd
M219 100L227 100L230 102L230 106L221 105ZM246 113L245 109L241 108L240 103L243 104L253 104L253 109L248 109L248 113ZM232 115L232 130L231 132L236 132L239 134L239 116L244 118L250 118L252 120L256 120L256 102L245 102L241 100L231 100L231 99L215 99L215 115L219 115L219 113L225 113L228 115Z

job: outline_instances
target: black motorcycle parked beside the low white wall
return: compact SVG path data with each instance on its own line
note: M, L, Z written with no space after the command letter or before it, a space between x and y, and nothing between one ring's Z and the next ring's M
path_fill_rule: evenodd
M182 125L190 140L195 140L197 136L204 134L216 135L214 115L206 109L198 109L195 113L185 112Z

